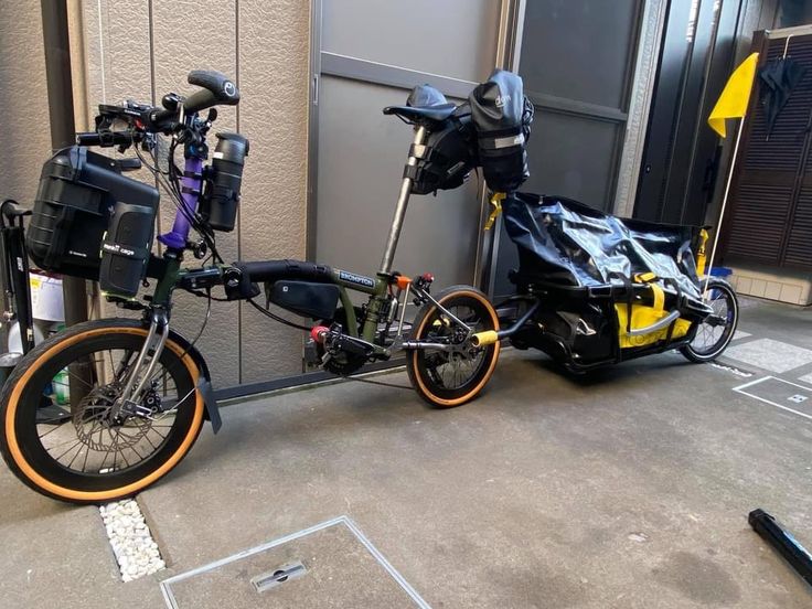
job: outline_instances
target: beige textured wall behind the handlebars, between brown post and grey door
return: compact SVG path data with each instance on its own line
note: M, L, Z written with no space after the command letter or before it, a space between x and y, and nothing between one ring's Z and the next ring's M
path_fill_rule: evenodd
M84 114L77 125L92 125L103 101L160 104L165 93L189 93L191 70L216 70L234 78L241 105L220 108L214 131L242 132L250 140L250 154L237 228L218 235L218 249L226 261L304 256L308 2L99 0L81 2L71 25L83 60L74 61L74 81L84 88L77 92L77 114ZM152 180L146 170L141 178ZM169 229L173 211L164 197L159 229ZM109 306L104 312L119 314ZM194 338L204 317L203 299L177 295L175 329ZM197 345L215 386L301 372L301 333L265 320L244 303L214 302Z

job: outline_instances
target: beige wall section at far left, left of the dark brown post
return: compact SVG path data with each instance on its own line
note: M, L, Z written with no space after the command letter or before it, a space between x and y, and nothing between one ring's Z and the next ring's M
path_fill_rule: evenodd
M0 2L0 196L33 204L51 152L45 53L38 0Z

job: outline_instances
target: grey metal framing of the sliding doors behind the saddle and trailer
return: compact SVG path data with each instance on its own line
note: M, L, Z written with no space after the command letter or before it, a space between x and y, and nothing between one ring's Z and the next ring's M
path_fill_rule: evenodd
M499 0L500 15L496 32L496 56L494 67L516 71L521 60L524 17L527 0ZM654 76L660 57L667 0L642 0L635 20L634 46L629 55L627 73L631 77L626 84L624 97L629 104L627 113L537 92L525 92L527 97L541 109L573 114L621 125L612 163L616 168L610 196L612 211L628 215L633 209L637 175L640 171L643 143L648 127L648 116L653 98ZM312 260L316 256L318 235L317 215L319 204L319 88L321 75L340 76L372 84L409 89L416 82L431 84L455 97L467 97L479 83L436 74L392 66L383 63L322 52L322 8L323 0L310 0L310 74L308 103L308 169L307 169L307 217L306 255ZM502 218L498 218L488 234L482 228L490 213L484 183L480 189L479 238L474 260L472 285L493 293L495 285L495 257L499 252Z

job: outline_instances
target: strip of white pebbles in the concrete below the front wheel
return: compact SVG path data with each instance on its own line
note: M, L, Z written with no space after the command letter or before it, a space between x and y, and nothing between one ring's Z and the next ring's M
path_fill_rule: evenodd
M108 503L100 505L98 510L118 560L122 581L132 581L165 568L158 544L135 500Z

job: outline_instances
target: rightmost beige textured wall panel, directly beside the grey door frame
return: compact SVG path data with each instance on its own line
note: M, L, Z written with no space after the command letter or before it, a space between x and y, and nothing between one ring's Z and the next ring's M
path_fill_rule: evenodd
M239 0L239 127L245 259L303 258L309 2ZM301 332L243 307L243 382L301 372Z

